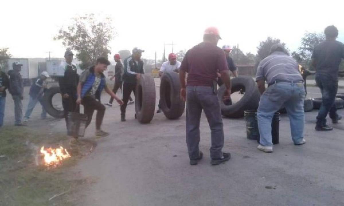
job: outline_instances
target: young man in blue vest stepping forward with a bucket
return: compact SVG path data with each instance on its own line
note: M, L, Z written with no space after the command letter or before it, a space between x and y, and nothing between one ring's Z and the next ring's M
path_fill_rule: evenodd
M90 124L94 111L97 110L96 137L106 137L109 135L109 133L101 130L101 123L103 122L105 114L105 106L100 103L101 91L105 89L118 104L123 104L122 100L120 100L106 85L103 71L105 71L109 65L109 60L104 57L99 57L95 66L90 67L80 75L80 81L77 87L78 99L76 103L84 106L84 113L87 115L86 127Z

